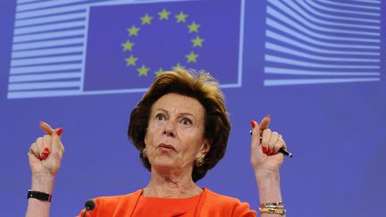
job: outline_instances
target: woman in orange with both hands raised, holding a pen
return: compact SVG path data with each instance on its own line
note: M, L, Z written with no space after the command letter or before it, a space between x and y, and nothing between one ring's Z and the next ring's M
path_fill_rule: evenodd
M269 121L251 121L250 162L262 203L259 211L274 217L285 214L279 180L284 156L279 150L286 145L279 133L268 129ZM40 127L46 135L29 148L32 192L26 216L49 215L47 200L64 152L63 129L45 122ZM124 196L98 197L88 216L256 216L247 203L196 184L222 159L230 131L224 97L208 73L162 73L130 115L130 141L151 172L147 187Z

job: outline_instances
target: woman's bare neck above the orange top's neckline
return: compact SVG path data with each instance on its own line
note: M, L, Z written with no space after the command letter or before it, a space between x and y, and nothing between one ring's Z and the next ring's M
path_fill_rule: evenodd
M152 168L151 179L143 191L144 196L186 198L202 192L191 177L192 171L156 170Z

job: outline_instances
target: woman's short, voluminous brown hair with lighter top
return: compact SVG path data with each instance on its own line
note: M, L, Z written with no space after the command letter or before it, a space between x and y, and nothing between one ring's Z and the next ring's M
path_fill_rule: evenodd
M211 142L211 147L205 156L204 164L193 168L192 178L196 182L202 179L225 154L231 122L224 96L218 82L205 71L186 71L178 68L174 71L165 71L156 77L147 93L132 110L128 129L130 141L140 151L139 157L148 171L151 170L151 165L147 157L142 155L142 151L146 146L144 140L151 108L155 101L169 93L195 98L206 111L204 137Z

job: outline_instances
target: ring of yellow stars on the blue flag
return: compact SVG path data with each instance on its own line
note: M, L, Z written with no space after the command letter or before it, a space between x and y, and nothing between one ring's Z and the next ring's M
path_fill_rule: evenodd
M180 13L174 15L174 19L171 18L172 12L167 11L165 8L158 12L158 20L159 21L172 21L174 20L176 23L186 24L187 28L189 30L189 34L196 33L195 38L191 38L190 42L192 44L192 48L195 47L202 47L204 44L205 39L200 38L198 36L198 29L200 28L200 25L196 23L195 21L191 21L190 23L187 23L187 18L189 15L187 13L183 13L180 11ZM152 21L155 19L154 17L150 16L148 13L145 13L142 17L139 18L141 25L131 25L129 29L126 29L129 34L129 39L127 39L124 43L122 43L122 51L123 52L133 52L135 43L133 42L133 38L138 37L138 33L140 31L140 28L145 26L152 25ZM187 63L197 63L197 58L199 55L195 53L194 51L190 51L189 54L185 55L187 59ZM150 68L148 68L145 64L142 64L140 67L137 65L138 57L134 56L133 54L130 54L128 58L125 58L126 66L127 67L134 67L136 71L138 71L138 76L147 76L148 72L150 71ZM175 68L185 68L180 63L175 64L172 69ZM155 75L158 76L163 72L163 68L159 68L157 71L154 71Z

